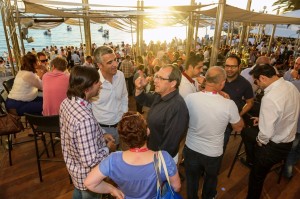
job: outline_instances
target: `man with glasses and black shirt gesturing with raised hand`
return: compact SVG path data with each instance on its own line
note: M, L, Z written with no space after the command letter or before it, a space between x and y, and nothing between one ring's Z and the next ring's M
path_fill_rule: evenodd
M178 87L181 72L173 65L163 66L154 76L155 93L145 93L145 77L135 80L135 98L143 106L150 107L148 126L150 135L148 147L151 150L165 150L178 162L179 143L187 130L189 114L180 96Z

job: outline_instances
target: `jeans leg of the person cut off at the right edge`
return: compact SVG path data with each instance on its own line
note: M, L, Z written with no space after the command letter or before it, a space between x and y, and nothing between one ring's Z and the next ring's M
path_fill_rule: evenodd
M287 178L292 177L293 167L300 159L300 133L296 133L295 140L293 141L293 146L286 159L284 173L283 175Z

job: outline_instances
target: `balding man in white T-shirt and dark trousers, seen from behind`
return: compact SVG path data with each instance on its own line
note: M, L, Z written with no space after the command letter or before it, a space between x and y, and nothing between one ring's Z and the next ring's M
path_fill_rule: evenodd
M241 131L244 126L234 101L219 94L226 81L224 69L218 66L209 68L205 79L202 92L185 98L190 115L183 150L189 199L199 198L199 179L203 173L202 198L216 196L226 126L230 123L234 131Z

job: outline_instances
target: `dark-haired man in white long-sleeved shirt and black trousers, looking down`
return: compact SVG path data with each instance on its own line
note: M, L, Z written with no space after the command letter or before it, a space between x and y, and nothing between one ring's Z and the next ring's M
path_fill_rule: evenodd
M259 132L249 176L248 199L260 197L272 166L286 159L295 139L300 110L299 91L292 83L279 78L272 66L257 65L251 75L254 83L264 89L264 97L259 121L254 119Z

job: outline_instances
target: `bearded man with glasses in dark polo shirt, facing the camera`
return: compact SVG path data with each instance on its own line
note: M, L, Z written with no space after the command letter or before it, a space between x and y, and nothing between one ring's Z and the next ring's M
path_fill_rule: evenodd
M248 80L240 75L241 59L231 54L225 61L224 69L227 79L223 91L226 92L238 107L240 116L245 115L254 104L253 89ZM224 136L224 152L232 132L230 125L227 126Z

